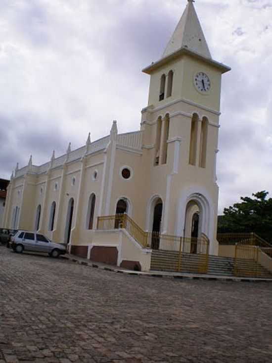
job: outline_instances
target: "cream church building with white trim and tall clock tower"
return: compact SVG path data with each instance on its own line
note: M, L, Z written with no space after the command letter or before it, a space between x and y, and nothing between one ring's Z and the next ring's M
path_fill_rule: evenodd
M140 129L36 166L16 166L3 227L36 230L70 253L149 270L152 251L218 255L216 159L221 78L193 0L150 76ZM204 241L204 242L203 242ZM186 247L187 246L187 247Z

